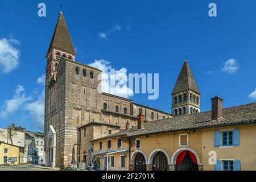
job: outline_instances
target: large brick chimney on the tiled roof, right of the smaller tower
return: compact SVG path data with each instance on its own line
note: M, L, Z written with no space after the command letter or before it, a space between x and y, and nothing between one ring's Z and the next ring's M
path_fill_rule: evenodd
M223 100L222 98L215 96L212 98L212 120L222 118L222 109L223 109Z

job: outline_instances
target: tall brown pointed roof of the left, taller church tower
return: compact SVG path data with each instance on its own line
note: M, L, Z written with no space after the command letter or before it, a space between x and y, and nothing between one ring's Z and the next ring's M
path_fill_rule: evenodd
M60 11L60 16L57 21L57 24L52 36L51 44L49 45L47 52L49 52L49 50L52 47L59 48L63 51L76 55L76 51L75 51L75 48L73 47L71 36L69 35L68 27L65 22L62 11Z

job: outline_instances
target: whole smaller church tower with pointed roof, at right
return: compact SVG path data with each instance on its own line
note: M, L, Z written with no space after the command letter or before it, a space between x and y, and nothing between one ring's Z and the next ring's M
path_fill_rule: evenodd
M187 60L184 60L180 75L172 90L172 114L183 115L199 112L200 91Z

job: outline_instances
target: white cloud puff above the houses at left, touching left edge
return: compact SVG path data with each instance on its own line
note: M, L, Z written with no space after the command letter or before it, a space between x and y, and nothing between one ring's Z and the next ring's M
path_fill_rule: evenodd
M30 101L31 99L32 97L26 97L23 86L17 85L13 98L5 101L3 110L0 113L0 117L5 119L8 118L10 114L22 109L24 103Z

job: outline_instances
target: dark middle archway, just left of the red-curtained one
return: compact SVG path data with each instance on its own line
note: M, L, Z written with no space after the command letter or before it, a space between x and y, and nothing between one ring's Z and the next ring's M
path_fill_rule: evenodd
M153 158L153 171L168 171L168 159L163 152L157 152Z

